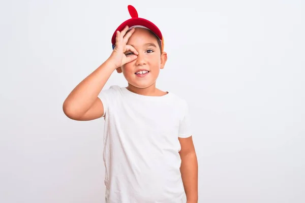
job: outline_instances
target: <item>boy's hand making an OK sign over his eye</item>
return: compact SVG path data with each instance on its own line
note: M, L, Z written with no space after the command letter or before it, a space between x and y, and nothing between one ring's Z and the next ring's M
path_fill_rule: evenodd
M115 69L135 60L138 55L138 52L134 47L127 45L128 39L131 37L135 29L132 28L129 32L127 31L128 26L126 26L121 32L116 31L115 48L109 57L109 60L111 60L115 65ZM126 56L125 53L128 51L132 52L133 54Z

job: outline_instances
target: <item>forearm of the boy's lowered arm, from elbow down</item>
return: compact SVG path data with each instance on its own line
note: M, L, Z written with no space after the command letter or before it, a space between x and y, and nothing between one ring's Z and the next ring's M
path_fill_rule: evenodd
M181 178L184 184L187 202L198 202L198 162L195 151L181 155Z

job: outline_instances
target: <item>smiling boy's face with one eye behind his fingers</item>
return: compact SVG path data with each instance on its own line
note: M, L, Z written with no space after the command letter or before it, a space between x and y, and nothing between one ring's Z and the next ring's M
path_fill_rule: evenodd
M160 53L157 38L145 28L135 28L127 44L138 51L138 57L136 60L123 65L117 72L123 72L128 83L134 87L146 88L154 85L160 69L163 69L167 60L166 53ZM133 53L129 51L125 54L128 57ZM142 74L139 74L139 70L145 70L148 73L142 72Z

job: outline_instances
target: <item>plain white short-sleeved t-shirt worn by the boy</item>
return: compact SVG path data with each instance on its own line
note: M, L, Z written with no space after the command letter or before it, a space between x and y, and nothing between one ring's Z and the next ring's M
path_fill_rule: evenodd
M191 136L188 105L169 92L101 91L107 203L181 203L178 137Z

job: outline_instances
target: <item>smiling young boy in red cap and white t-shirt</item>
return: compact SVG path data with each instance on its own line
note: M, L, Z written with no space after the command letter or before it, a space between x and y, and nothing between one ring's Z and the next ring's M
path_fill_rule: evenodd
M110 57L80 82L63 109L74 120L105 119L104 163L107 203L198 202L198 165L188 105L156 88L167 54L159 28L131 19L113 34ZM127 87L103 87L123 73Z

